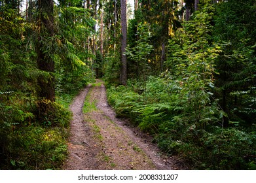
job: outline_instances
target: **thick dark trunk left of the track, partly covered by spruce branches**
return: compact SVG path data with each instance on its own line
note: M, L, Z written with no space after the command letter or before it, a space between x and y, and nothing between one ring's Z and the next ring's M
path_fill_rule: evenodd
M41 71L46 71L49 76L41 76L38 78L39 91L38 95L41 99L55 101L54 90L54 61L50 53L46 53L43 48L47 44L47 39L54 36L54 3L52 0L39 0L37 18L37 26L39 30L37 42L37 67ZM47 16L46 16L47 15Z

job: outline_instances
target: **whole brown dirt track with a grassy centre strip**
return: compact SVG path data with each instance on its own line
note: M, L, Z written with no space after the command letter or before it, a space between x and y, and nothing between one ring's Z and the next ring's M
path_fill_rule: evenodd
M115 117L101 80L84 88L70 110L69 156L63 169L186 169L177 158L162 154L152 137Z

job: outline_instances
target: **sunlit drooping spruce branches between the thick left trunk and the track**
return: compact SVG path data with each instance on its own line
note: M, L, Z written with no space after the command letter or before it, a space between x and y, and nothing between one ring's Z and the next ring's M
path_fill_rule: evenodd
M81 90L94 78L91 70L94 56L86 50L84 40L94 34L95 20L84 8L61 5L57 10L60 14L60 39L57 41L60 50L54 55L56 92L72 93Z

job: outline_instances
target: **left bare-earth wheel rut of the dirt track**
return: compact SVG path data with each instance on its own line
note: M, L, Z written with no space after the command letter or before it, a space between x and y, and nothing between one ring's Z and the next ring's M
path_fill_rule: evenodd
M70 124L70 137L67 144L69 156L64 163L63 169L86 170L100 169L101 167L102 163L95 158L100 150L96 147L93 148L94 141L90 138L93 135L93 131L84 122L84 114L82 112L84 99L90 88L91 85L84 88L69 107L73 112L73 120Z

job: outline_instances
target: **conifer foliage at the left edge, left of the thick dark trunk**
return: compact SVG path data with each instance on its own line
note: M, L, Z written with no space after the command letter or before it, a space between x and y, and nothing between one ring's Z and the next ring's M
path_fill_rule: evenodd
M10 154L14 131L35 120L36 76L40 72L31 58L33 52L27 52L23 35L29 25L23 24L23 21L15 9L1 6L0 168Z

